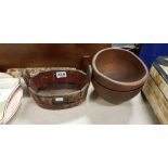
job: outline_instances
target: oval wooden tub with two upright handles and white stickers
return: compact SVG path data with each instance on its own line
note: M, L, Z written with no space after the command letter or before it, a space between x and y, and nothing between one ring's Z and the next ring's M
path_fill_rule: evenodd
M88 73L62 68L39 73L34 77L25 70L23 77L39 106L49 109L68 108L85 101L91 78L91 66Z

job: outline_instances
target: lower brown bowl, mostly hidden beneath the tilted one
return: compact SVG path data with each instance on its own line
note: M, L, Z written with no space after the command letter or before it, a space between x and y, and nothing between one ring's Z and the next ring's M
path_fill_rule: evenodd
M128 100L132 99L133 96L135 96L141 91L141 88L132 90L132 91L109 90L109 89L101 86L94 79L92 79L92 83L93 83L93 87L95 89L95 92L101 98L103 98L104 100L106 100L107 102L113 103L113 104L119 104L119 103L122 103L125 101L128 101Z

